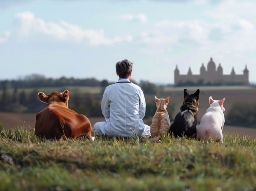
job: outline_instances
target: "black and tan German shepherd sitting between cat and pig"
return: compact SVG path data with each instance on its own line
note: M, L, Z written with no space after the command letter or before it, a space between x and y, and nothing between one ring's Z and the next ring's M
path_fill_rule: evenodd
M188 93L184 89L184 101L180 107L180 112L176 115L173 124L170 126L169 133L175 137L185 136L196 137L197 112L198 112L199 89L194 93Z

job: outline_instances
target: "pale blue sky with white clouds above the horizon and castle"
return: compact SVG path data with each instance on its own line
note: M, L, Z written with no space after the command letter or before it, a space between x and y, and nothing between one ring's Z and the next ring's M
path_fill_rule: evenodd
M29 74L173 83L212 56L224 74L247 64L256 82L256 1L0 0L0 79Z

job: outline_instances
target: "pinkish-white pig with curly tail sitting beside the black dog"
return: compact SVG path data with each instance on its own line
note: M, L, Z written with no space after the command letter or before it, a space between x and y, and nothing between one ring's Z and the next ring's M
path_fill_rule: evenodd
M206 110L206 113L201 119L200 125L197 127L196 137L198 139L209 139L210 135L215 141L222 142L222 129L225 122L224 114L225 108L223 107L222 100L213 100L210 96L210 107Z

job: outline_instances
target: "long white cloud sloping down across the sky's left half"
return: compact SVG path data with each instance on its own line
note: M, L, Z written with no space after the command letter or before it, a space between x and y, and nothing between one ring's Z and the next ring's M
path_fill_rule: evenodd
M19 40L24 40L31 36L46 35L58 41L79 43L83 40L87 40L90 45L111 45L123 41L132 41L132 36L129 34L125 36L116 35L114 38L109 38L105 37L103 29L83 30L80 26L70 24L66 21L45 23L44 20L35 18L34 14L29 11L18 12L15 14L15 18L18 21L17 33Z

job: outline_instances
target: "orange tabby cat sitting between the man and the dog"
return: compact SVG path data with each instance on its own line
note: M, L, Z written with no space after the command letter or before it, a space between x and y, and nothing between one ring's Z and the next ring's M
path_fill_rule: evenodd
M160 137L164 137L164 135L168 135L170 128L170 119L168 112L166 110L167 104L169 103L169 98L166 99L157 99L156 98L156 113L152 119L152 124L150 126L150 142L156 142Z

